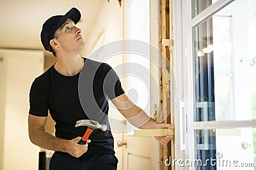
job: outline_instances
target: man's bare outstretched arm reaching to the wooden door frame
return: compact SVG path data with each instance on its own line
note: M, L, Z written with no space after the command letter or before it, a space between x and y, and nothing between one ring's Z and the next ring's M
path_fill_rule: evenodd
M147 113L140 107L136 106L132 101L125 95L122 94L114 99L111 99L112 103L115 104L116 108L124 115L127 120L140 129L174 129L170 124L157 124L157 122L148 117ZM173 136L157 136L155 137L162 145L165 145L173 138Z

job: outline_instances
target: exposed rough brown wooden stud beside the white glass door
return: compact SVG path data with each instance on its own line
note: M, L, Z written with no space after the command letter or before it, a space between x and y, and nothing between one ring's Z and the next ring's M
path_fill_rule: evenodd
M173 0L161 0L161 38L173 39ZM164 75L168 75L166 78L162 73L162 98L163 98L163 117L168 117L164 120L165 124L174 125L173 104L175 101L175 77L173 73L173 46L161 46L162 52L166 56L166 59L162 60L162 71ZM166 105L164 105L166 104ZM170 113L172 111L172 113ZM173 162L175 158L174 140L168 145L163 146L162 150L162 166L161 169L174 170L174 166L166 166L164 161L168 159ZM170 157L172 160L170 160Z

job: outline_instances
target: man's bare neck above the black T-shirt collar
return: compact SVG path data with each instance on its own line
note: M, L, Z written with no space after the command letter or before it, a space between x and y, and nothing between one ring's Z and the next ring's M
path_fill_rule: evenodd
M57 57L54 68L64 76L74 76L83 68L84 60L78 55Z

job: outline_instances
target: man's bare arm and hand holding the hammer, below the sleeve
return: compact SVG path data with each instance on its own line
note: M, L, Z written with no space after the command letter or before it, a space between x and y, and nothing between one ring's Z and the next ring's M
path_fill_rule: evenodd
M47 150L54 150L60 152L67 152L74 157L80 157L87 151L88 144L78 145L77 142L81 139L80 137L72 140L60 139L52 136L45 132L45 124L47 117L36 117L34 115L28 116L28 132L30 141L45 148ZM88 141L90 142L90 141Z

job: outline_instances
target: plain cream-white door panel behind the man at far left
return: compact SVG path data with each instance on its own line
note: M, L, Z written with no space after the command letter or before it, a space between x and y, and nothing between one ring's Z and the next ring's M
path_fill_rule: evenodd
M44 52L1 49L0 69L0 169L37 169L39 148L28 137L29 89L43 72Z

